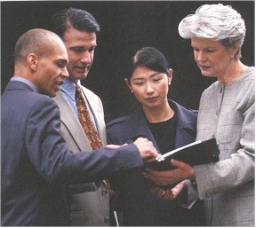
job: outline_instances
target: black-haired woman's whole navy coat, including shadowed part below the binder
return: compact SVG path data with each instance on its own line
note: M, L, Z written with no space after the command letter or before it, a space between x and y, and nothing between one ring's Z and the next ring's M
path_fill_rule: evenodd
M177 130L175 138L175 148L187 145L195 141L196 138L196 114L197 111L188 110L176 102L169 100L169 105L177 114ZM108 143L122 145L131 143L140 136L148 138L158 149L156 140L148 128L145 114L142 107L132 114L118 118L107 125ZM158 149L159 151L159 149ZM156 199L155 195L149 193L148 181L142 177L136 169L118 179L111 179L113 187L117 190L116 209L121 207L124 212L124 225L148 226L148 225L180 225L177 221L179 215L186 221L195 214L179 207L178 203L171 200ZM196 216L202 216L202 206L197 210ZM180 210L180 212L178 212ZM200 214L201 213L201 214ZM188 214L188 215L186 215ZM176 216L177 215L177 216ZM201 225L200 218L196 221L187 221L181 225ZM195 218L197 220L197 218ZM199 221L200 220L200 221Z

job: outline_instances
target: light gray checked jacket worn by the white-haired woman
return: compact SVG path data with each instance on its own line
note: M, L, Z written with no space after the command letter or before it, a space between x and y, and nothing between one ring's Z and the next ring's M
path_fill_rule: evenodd
M195 166L207 225L254 227L255 68L202 94L196 139L216 138L220 161ZM192 193L188 186L188 196Z

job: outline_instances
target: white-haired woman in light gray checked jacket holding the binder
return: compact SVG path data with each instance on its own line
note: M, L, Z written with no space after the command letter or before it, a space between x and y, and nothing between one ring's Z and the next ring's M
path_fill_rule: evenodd
M216 138L220 161L191 167L172 160L177 169L144 175L157 185L188 179L188 202L204 200L207 225L254 226L255 68L240 60L244 20L229 5L204 4L180 21L179 33L191 39L202 75L218 79L202 94L196 139ZM170 192L158 195L173 198Z

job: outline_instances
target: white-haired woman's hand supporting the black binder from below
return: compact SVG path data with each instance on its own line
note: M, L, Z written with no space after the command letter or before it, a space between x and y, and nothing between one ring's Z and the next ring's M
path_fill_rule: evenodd
M172 166L176 169L167 171L156 171L153 169L146 169L143 176L152 180L156 185L174 185L185 179L195 178L195 169L185 162L171 160Z

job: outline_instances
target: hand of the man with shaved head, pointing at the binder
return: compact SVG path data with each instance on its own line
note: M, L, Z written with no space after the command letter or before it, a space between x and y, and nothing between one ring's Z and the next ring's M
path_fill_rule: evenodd
M157 156L157 151L155 146L147 138L137 138L134 142L140 151L140 156L143 161L154 161Z

